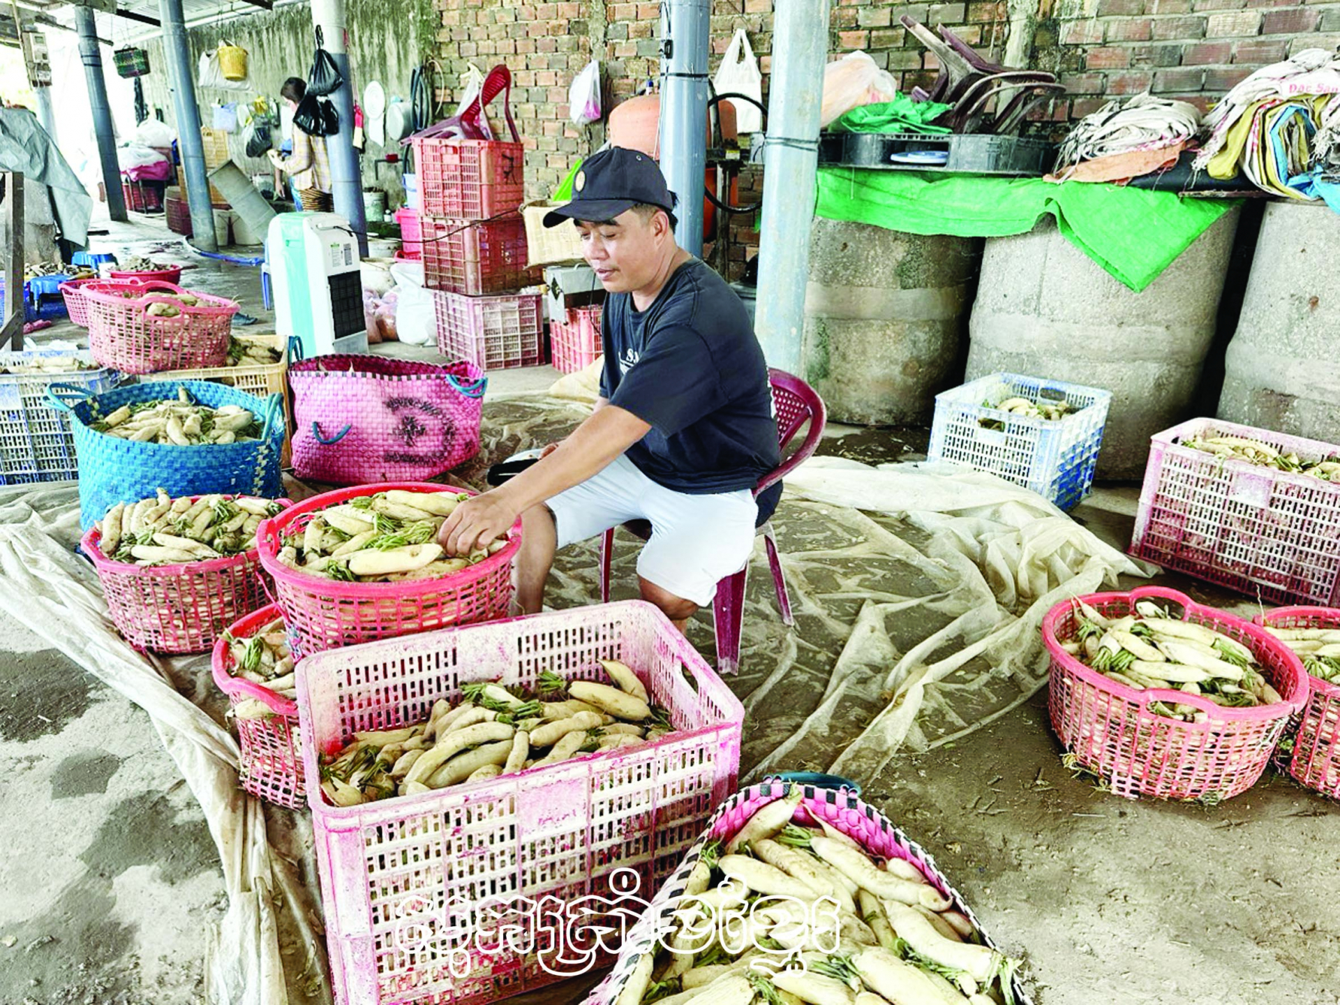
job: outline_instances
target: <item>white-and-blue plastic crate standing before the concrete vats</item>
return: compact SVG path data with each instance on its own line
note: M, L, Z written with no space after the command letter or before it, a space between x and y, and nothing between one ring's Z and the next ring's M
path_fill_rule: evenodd
M1026 418L992 407L1008 398L1064 401L1060 419ZM958 461L1033 489L1061 509L1093 486L1111 391L1020 374L990 374L935 395L933 461ZM982 421L1002 423L988 429Z

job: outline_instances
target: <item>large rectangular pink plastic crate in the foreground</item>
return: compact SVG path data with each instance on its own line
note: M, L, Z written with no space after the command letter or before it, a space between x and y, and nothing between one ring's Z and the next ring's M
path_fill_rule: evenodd
M465 683L533 686L544 670L594 679L600 659L631 666L683 732L348 808L327 805L319 787L308 792L336 1002L482 1005L561 980L552 973L560 967L474 931L481 909L603 895L602 880L616 868L632 870L645 891L655 888L734 789L744 708L665 615L641 600L389 639L303 662L303 764L316 777L318 752L339 749L355 730L419 722ZM557 935L556 923L547 914L536 919L537 945ZM608 958L598 950L592 965Z

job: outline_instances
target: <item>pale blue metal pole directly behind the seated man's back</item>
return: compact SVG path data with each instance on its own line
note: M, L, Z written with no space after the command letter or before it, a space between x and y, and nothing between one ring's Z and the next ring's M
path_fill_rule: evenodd
M770 366L804 377L801 338L809 230L819 182L819 114L828 59L828 0L777 0L764 146L758 310Z

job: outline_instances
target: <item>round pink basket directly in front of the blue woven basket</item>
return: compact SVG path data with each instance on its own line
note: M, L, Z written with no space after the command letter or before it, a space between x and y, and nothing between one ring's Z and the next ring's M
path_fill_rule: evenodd
M98 571L113 624L133 649L208 653L224 628L268 603L255 548L181 565L135 565L109 559L100 541L96 525L90 527L80 549Z

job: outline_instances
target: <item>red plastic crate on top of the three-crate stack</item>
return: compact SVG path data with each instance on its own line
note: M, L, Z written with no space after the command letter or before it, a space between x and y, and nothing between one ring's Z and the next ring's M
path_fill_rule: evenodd
M524 147L498 139L415 139L425 216L488 220L525 202Z

